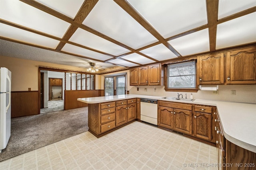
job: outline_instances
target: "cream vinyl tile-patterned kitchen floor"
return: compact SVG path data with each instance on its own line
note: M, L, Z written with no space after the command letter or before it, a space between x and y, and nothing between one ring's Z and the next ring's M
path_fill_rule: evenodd
M90 132L0 162L1 170L217 170L216 147L135 121L103 137Z

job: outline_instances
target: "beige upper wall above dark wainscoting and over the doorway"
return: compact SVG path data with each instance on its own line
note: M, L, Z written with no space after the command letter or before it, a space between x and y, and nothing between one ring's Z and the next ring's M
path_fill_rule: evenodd
M0 67L12 72L12 91L28 91L28 88L38 90L38 66L86 71L86 68L0 56Z

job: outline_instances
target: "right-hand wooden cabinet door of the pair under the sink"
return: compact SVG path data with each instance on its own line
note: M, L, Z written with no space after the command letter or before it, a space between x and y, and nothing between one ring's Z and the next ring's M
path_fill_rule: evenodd
M174 130L192 135L192 111L174 109Z

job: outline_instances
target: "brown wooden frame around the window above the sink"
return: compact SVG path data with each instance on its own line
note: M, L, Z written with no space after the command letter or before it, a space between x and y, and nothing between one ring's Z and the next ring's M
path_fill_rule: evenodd
M196 60L190 60L190 61L195 61L195 81L196 81L196 74L197 74L197 62ZM184 62L190 62L190 61L184 61ZM168 65L170 64L177 64L177 63L184 63L184 62L175 62L175 63L168 63L165 64L164 66L164 90L168 91L168 92L197 92L198 91L198 84L197 81L196 83L196 87L195 88L168 88Z

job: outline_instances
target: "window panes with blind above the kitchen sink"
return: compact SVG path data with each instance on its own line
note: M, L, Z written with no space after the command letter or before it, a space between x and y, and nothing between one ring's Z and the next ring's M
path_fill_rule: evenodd
M167 69L168 88L196 88L196 62L169 64Z

